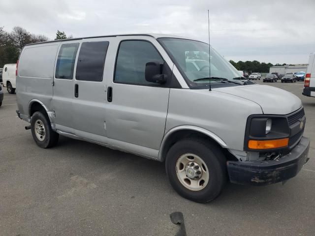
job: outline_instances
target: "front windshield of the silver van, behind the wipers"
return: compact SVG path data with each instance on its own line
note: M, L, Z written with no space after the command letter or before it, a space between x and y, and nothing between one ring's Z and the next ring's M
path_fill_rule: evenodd
M209 88L210 76L232 81L236 83L236 86L238 83L243 84L239 81L239 72L213 48L210 49L211 63L209 63L209 44L207 43L179 38L159 38L158 42L173 59L191 89ZM212 83L220 82L214 79L211 80ZM226 86L229 83L220 84Z

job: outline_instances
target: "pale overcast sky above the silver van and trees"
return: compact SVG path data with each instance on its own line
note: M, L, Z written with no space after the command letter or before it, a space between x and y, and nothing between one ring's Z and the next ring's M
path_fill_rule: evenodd
M167 33L208 41L226 59L307 63L315 0L1 0L0 26L55 38Z

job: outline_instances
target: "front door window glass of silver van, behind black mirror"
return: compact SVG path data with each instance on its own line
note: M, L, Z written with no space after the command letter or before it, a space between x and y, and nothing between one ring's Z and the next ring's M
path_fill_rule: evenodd
M148 82L145 79L146 63L149 61L164 63L164 60L150 42L141 40L122 41L117 55L114 82L156 86L157 84Z

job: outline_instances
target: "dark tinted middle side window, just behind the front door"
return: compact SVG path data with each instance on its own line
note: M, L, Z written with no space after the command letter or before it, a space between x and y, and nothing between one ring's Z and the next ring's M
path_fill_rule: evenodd
M76 80L102 81L109 42L82 43L75 73Z

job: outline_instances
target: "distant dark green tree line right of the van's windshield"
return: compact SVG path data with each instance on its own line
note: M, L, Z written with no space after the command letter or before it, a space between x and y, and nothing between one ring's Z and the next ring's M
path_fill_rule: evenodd
M284 64L275 64L273 65L272 63L265 63L265 62L259 62L257 60L253 61L238 61L235 62L233 60L229 60L229 62L237 69L237 70L243 70L243 71L252 71L252 72L258 72L258 73L268 73L269 68L271 66L281 66L281 65L286 65Z

